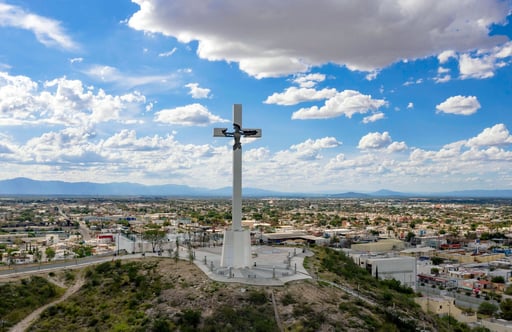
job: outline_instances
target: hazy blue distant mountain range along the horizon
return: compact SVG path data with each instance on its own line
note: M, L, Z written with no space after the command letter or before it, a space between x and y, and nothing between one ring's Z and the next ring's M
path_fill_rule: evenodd
M194 188L184 185L142 185L129 182L94 183L39 181L15 178L0 181L3 196L172 196L172 197L230 197L231 187L220 189ZM512 190L464 190L442 193L403 193L379 190L372 193L345 192L338 194L286 193L257 188L243 188L247 197L328 197L328 198L512 198Z

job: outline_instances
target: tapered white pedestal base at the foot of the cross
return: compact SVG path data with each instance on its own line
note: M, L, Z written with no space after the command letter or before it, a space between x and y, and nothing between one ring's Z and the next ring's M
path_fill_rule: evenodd
M251 265L251 234L249 230L225 230L220 266L238 269Z

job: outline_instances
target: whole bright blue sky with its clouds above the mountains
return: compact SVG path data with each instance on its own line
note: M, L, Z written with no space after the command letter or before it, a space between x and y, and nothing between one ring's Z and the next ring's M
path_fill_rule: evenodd
M1 179L512 189L512 3L0 0Z

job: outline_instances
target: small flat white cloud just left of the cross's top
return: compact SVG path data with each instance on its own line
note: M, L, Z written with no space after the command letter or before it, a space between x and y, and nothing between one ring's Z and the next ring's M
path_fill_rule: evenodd
M218 122L230 122L213 115L201 104L190 104L173 109L164 109L155 113L155 121L180 126L208 126Z

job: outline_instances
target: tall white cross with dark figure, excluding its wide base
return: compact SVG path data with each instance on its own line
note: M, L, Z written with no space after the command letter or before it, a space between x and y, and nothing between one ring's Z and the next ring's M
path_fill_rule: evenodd
M227 128L214 128L214 137L233 137L233 201L231 206L232 230L242 229L242 144L240 138L261 137L261 129L242 129L242 105L233 105L233 132Z

